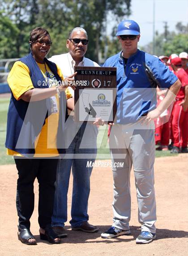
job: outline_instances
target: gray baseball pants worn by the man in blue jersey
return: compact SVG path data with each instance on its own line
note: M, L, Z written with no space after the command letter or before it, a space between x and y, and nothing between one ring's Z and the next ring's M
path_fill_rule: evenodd
M143 120L143 119L141 119ZM154 123L115 124L110 148L114 179L113 226L127 230L131 217L130 171L133 164L141 231L155 233L156 202L154 192ZM124 166L116 167L115 162Z

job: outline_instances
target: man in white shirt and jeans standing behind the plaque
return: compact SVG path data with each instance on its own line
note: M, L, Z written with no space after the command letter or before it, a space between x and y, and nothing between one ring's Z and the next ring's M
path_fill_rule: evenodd
M81 27L75 27L70 31L67 39L69 52L52 56L50 60L61 68L64 78L74 74L75 65L99 67L94 61L84 57L87 46L87 32ZM74 91L71 88L70 91L74 97ZM73 115L73 112L70 115ZM96 158L98 128L92 124L75 123L73 116L69 116L66 123L65 137L68 138L69 144L70 142L71 144L66 149L65 157L60 159L58 163L54 213L52 216L53 229L61 238L67 236L64 223L67 221L67 193L71 167L73 173L72 220L70 221L72 230L89 233L98 231L98 227L88 223L87 207L92 167L86 166L87 161L95 161ZM83 141L86 147L83 145Z

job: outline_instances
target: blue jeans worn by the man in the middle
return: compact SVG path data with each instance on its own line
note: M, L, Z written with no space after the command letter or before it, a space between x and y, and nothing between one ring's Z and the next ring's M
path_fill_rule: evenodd
M64 223L67 221L67 193L71 167L73 173L73 194L72 220L70 224L72 227L80 226L82 222L89 219L87 208L90 195L90 175L93 168L87 167L87 162L95 161L98 129L96 126L88 124L86 127L86 123L82 125L74 123L70 119L68 121L66 138L70 138L73 134L76 135L73 136L70 146L66 149L64 158L59 160L57 166L56 193L52 216L53 226L64 226ZM85 136L87 139L84 139ZM83 140L86 143L83 144Z

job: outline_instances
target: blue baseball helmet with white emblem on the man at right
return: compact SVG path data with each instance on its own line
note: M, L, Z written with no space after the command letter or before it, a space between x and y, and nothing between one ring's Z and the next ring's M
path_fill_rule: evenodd
M137 22L131 19L123 20L122 22L120 22L115 36L122 35L140 35L140 27Z

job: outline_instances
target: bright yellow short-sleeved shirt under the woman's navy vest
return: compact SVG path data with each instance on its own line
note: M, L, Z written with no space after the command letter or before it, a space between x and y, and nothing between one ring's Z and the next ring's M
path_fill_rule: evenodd
M48 72L48 80L45 65L41 63L37 64L41 72L43 73L46 82L48 82L49 87L53 86L53 81L56 81L56 77L51 72L47 64L46 68ZM64 80L63 74L58 66L57 72L60 78ZM21 61L17 61L14 63L13 68L9 73L7 81L9 83L10 89L13 92L14 98L17 100L20 99L23 93L34 88L30 78L29 68ZM65 90L65 94L67 96L67 99L72 97L68 89ZM43 125L42 130L38 135L37 139L35 140L34 157L55 157L59 155L56 147L56 137L59 122L60 102L57 94L55 96L50 97L50 100L52 103L52 114L45 120L46 122ZM17 153L9 148L7 149L7 154L14 156L22 156L20 153Z

